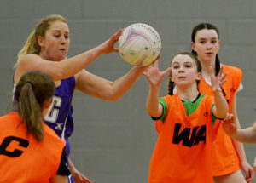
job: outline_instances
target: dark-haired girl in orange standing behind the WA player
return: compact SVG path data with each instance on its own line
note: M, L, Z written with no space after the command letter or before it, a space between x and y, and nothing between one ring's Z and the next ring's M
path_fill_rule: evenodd
M218 60L218 28L209 23L201 23L193 28L192 49L201 61L202 77L199 84L199 91L202 94L210 94L210 67L215 75L220 68L228 73L227 82L222 86L225 99L229 102L229 112L234 114L237 126L240 127L236 115L236 92L242 89L241 69L234 66L226 66ZM217 122L219 123L219 121ZM217 125L218 126L218 125ZM212 170L216 183L243 183L246 182L241 170L246 174L247 182L253 181L253 169L247 163L247 157L241 143L224 134L222 125L219 125L218 135L212 144Z

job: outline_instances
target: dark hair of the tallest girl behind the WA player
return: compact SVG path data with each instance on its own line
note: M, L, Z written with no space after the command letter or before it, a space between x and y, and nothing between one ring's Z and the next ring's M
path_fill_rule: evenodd
M195 43L195 35L197 33L197 31L201 31L203 29L207 29L207 30L214 30L216 31L218 37L219 37L219 32L218 32L218 28L217 26L214 26L210 23L201 23L201 24L198 24L197 26L194 26L193 30L192 30L192 34L191 34L191 41L193 43ZM197 53L192 49L191 51L193 54L197 55ZM216 58L215 58L215 76L218 75L218 72L220 70L220 61L218 59L218 54L216 54ZM224 89L222 89L222 92L224 94L224 96L226 95L225 92L224 92Z

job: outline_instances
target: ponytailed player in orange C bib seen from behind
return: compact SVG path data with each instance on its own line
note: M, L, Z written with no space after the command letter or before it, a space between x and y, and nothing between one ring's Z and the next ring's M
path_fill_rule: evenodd
M53 94L49 75L31 71L20 77L14 110L0 117L0 182L67 182L65 141L43 122Z

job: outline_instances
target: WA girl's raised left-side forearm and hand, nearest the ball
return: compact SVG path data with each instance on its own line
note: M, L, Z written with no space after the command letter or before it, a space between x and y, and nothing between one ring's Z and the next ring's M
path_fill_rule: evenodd
M144 72L144 76L147 77L149 82L149 92L146 108L150 117L160 117L163 112L163 108L158 101L160 83L163 81L166 74L171 70L172 69L169 67L166 69L166 71L159 71L158 61L156 61L154 66L149 66L147 71Z

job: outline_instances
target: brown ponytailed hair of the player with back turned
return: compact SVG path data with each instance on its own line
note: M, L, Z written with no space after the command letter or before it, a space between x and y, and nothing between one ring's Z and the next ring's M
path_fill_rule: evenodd
M48 74L29 71L20 77L15 87L18 112L25 123L26 134L33 134L36 140L43 140L42 127L44 102L55 94L55 83Z

